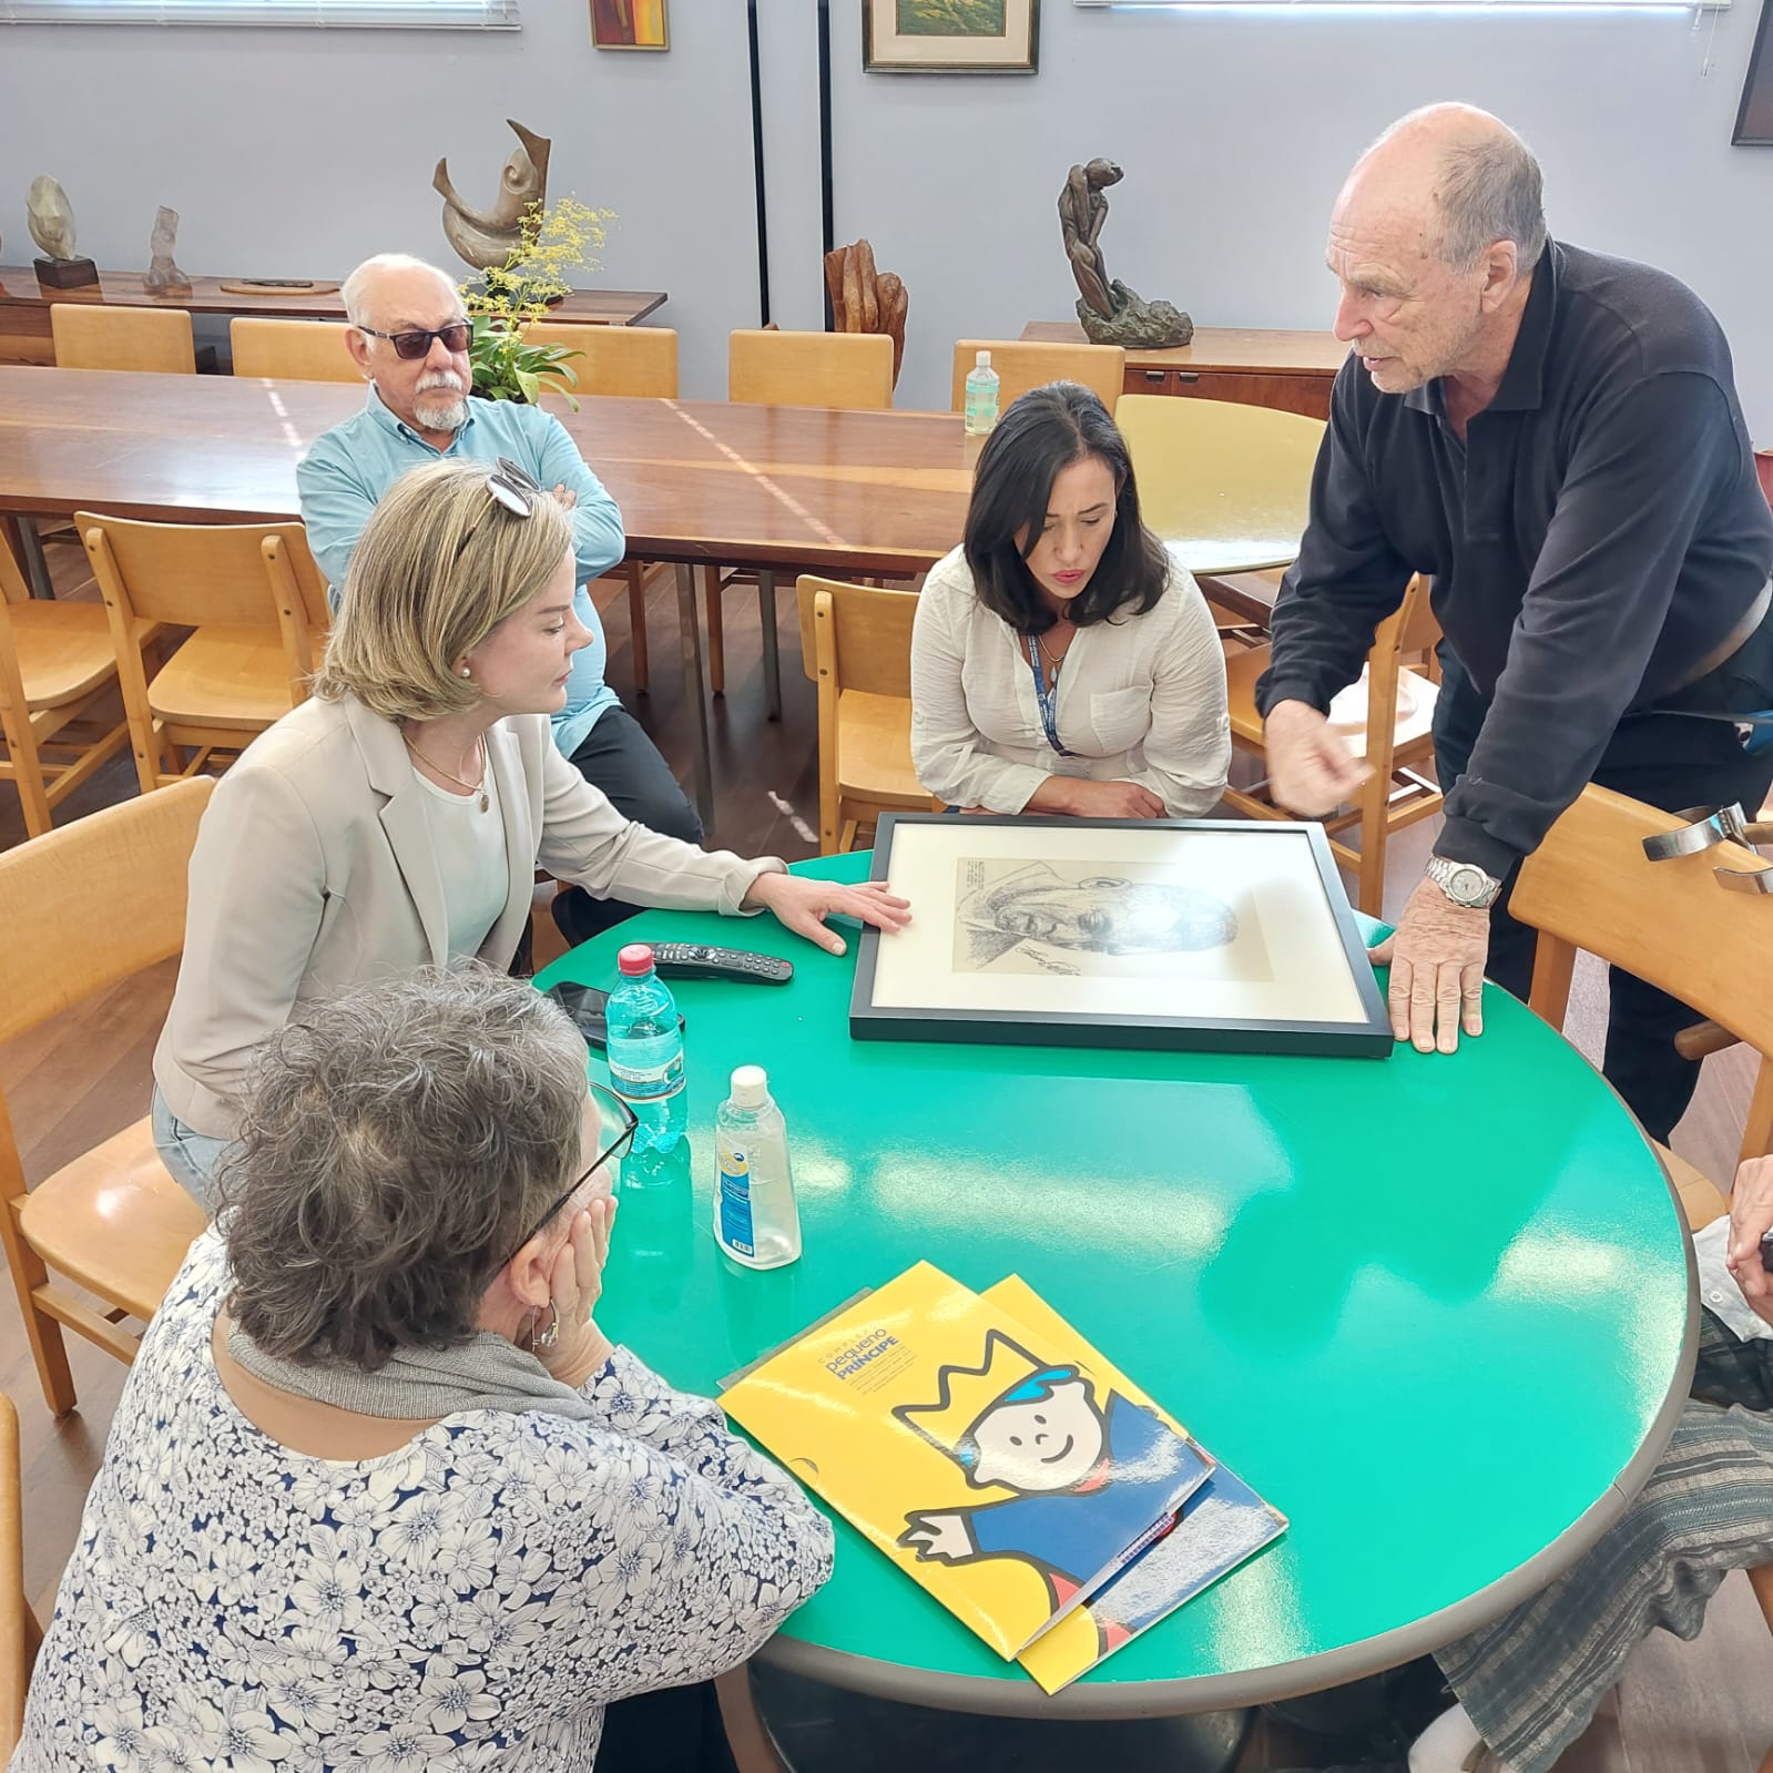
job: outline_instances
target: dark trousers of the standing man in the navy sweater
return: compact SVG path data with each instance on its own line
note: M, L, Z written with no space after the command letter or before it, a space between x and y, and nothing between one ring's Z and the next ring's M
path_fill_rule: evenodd
M1709 677L1670 697L1688 707L1750 711L1769 704L1773 624ZM1441 645L1441 688L1434 706L1434 766L1441 787L1452 789L1472 761L1489 702L1464 674L1452 649ZM1594 780L1619 794L1679 812L1683 807L1722 807L1739 800L1750 816L1773 784L1773 752L1750 757L1736 729L1713 720L1672 713L1628 716L1608 741ZM1523 1004L1534 973L1535 931L1509 915L1514 876L1489 913L1488 975ZM1656 986L1608 968L1610 1012L1601 1071L1651 1138L1667 1142L1686 1113L1699 1083L1699 1064L1683 1058L1674 1037L1700 1016Z

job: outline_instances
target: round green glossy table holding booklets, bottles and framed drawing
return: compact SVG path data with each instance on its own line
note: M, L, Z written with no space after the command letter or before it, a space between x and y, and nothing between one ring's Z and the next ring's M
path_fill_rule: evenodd
M613 1339L711 1395L920 1257L975 1289L1018 1273L1291 1518L1053 1699L839 1519L835 1574L766 1651L798 1674L1041 1718L1333 1686L1544 1587L1674 1431L1697 1335L1679 1206L1612 1089L1495 988L1457 1055L1358 1060L858 1043L855 940L835 959L769 917L649 911L537 984L608 988L617 947L647 938L796 970L672 986L690 1152L622 1177ZM741 1064L769 1071L800 1195L805 1254L771 1273L709 1230Z

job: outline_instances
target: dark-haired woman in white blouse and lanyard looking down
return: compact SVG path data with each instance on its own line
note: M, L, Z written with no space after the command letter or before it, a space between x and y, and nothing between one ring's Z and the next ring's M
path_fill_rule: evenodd
M1034 388L979 454L965 541L917 606L911 757L975 812L1199 817L1225 787L1213 617L1089 388Z

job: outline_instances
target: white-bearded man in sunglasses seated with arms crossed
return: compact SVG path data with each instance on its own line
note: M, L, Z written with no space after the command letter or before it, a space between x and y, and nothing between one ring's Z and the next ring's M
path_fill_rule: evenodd
M378 254L346 278L342 294L351 323L346 348L369 378L369 397L360 413L316 438L296 468L301 521L333 605L371 511L402 473L438 456L516 463L573 514L580 582L573 613L592 637L573 654L566 707L553 716L555 745L624 817L699 844L702 823L688 796L640 722L603 681L608 645L585 585L626 550L615 500L553 413L468 397L470 328L445 271L404 254ZM574 943L631 910L596 901L578 886L553 901L555 922Z

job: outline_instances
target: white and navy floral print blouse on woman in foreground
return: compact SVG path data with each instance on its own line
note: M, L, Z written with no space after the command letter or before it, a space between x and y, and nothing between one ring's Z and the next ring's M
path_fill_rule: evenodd
M14 1773L589 1769L603 1707L750 1656L832 1569L800 1486L626 1349L594 1422L314 1459L229 1399L206 1232L149 1326Z

